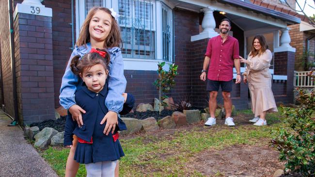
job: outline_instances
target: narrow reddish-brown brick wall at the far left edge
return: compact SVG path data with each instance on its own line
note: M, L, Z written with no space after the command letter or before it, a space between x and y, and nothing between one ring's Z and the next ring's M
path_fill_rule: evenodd
M2 109L11 116L14 116L13 104L13 84L11 71L11 57L10 57L10 29L9 27L9 13L8 1L0 1L0 43L1 43L1 68L3 79L3 98L4 108Z

